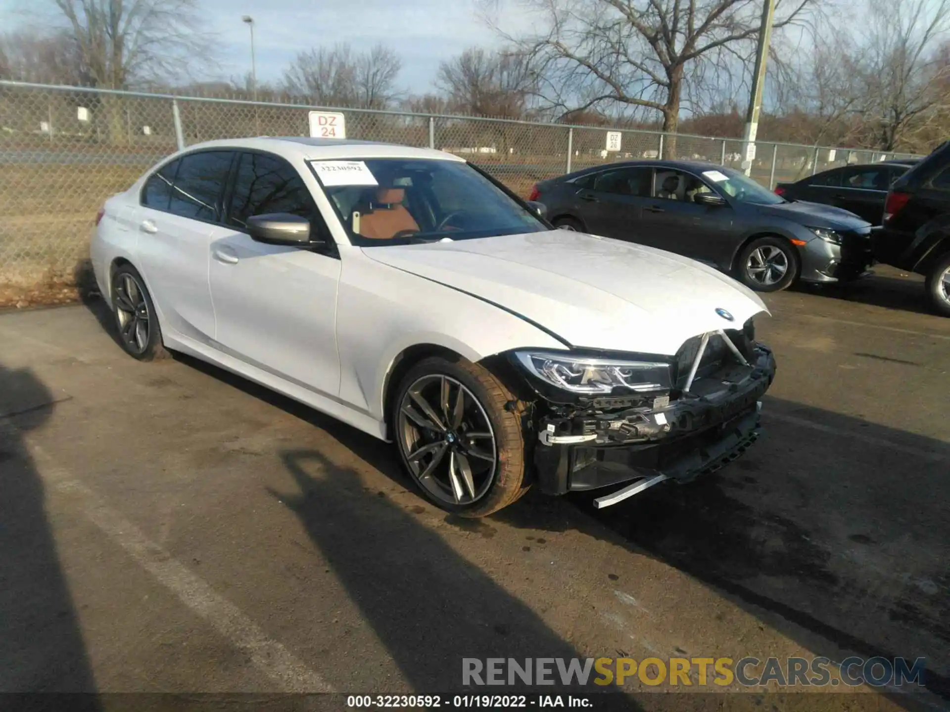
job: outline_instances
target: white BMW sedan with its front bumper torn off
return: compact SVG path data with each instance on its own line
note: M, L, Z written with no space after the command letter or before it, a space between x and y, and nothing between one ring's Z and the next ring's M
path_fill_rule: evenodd
M439 151L201 143L106 201L91 255L131 356L188 353L395 440L459 515L711 472L755 440L775 372L750 290L554 230Z

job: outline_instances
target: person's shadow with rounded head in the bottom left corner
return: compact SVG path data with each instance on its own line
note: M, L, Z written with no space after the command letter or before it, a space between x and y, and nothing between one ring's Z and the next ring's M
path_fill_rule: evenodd
M0 693L96 691L44 482L23 441L23 433L47 422L53 400L29 368L0 365ZM12 703L10 709L51 703L0 699ZM63 708L99 709L91 695L54 699Z

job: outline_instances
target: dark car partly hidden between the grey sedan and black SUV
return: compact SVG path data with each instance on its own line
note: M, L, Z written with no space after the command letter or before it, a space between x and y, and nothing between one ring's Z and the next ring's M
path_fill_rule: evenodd
M887 189L916 162L885 160L832 168L795 183L779 183L775 193L787 200L808 200L844 208L872 225L880 225Z

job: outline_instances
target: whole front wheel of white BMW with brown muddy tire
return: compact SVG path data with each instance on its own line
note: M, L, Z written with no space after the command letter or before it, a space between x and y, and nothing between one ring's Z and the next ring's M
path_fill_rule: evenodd
M430 357L409 369L392 400L394 440L422 494L461 516L485 516L527 491L520 408L482 365Z

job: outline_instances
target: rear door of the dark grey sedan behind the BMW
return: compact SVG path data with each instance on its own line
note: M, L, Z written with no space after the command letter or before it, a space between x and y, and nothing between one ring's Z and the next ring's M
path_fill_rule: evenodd
M650 201L653 169L623 166L587 177L578 191L581 215L591 233L642 242L643 206Z

